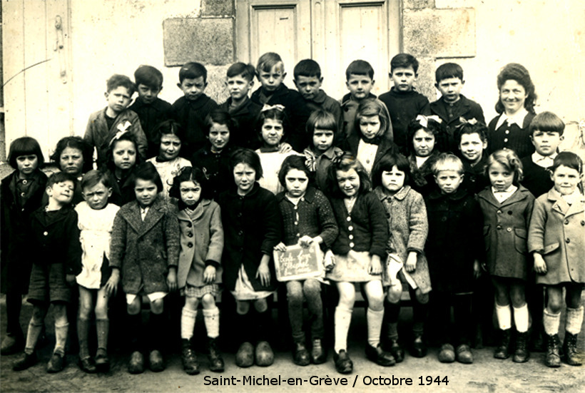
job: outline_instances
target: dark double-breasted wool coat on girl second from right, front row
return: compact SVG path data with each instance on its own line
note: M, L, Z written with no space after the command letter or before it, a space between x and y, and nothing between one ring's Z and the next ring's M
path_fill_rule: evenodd
M484 250L490 275L527 280L529 272L528 225L534 196L522 185L499 203L492 188L477 194L484 215Z

